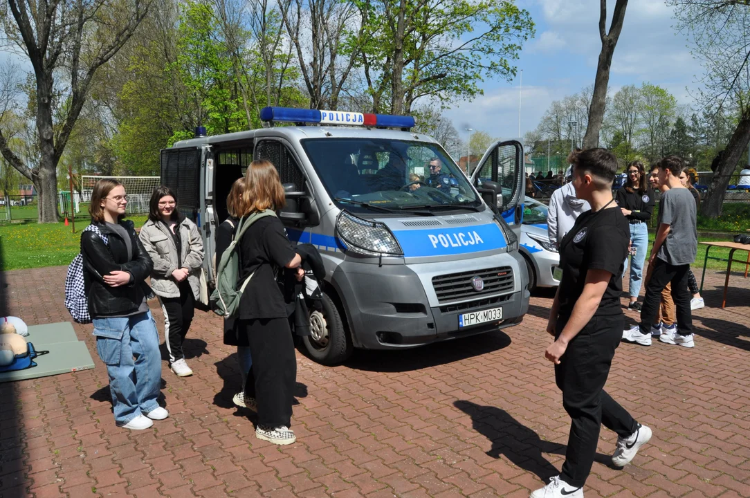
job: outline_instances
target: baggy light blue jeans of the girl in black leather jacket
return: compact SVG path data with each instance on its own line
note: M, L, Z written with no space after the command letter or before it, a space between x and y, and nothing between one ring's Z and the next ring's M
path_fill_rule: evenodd
M132 317L95 318L94 335L110 376L115 424L156 410L161 384L159 335L151 311Z

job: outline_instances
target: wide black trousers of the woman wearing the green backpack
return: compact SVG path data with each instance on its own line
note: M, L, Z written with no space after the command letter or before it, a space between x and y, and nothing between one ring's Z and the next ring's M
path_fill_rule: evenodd
M248 335L253 352L245 394L258 405L258 425L290 427L297 359L289 320L240 320L239 327Z

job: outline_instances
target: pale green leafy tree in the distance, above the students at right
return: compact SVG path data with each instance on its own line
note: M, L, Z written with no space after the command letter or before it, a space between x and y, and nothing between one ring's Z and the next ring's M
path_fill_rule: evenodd
M651 83L640 86L638 114L643 124L640 134L645 140L646 157L651 162L666 155L667 138L676 110L677 99L665 89Z

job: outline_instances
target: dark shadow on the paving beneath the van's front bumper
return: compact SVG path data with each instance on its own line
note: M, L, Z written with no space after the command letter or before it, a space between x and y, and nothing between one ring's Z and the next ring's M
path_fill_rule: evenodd
M372 372L408 372L492 353L510 344L505 332L487 332L409 350L356 350L344 366Z

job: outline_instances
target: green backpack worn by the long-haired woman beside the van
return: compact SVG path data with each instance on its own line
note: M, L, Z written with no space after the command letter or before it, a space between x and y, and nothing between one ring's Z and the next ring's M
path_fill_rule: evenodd
M248 287L248 282L255 275L255 272L251 273L242 282L242 286L239 289L237 288L240 272L239 242L242 240L242 236L245 235L245 231L253 223L266 216L276 216L276 213L271 210L257 211L247 218L242 217L235 230L235 235L232 237L232 242L229 243L229 247L221 255L221 261L216 271L216 288L208 300L211 309L220 317L234 317L237 311L239 311L239 299L242 297L242 293L245 292L245 287Z

